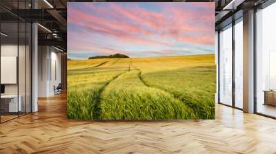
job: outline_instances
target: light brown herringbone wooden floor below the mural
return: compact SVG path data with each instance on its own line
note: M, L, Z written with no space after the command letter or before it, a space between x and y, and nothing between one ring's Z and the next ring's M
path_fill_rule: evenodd
M200 122L75 121L63 94L0 124L0 153L276 153L276 120L217 104Z

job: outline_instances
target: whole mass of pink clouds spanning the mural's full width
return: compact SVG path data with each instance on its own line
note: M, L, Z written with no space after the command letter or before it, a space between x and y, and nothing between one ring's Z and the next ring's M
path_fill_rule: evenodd
M175 41L197 44L214 44L215 11L214 4L197 4L206 12L186 10L168 5L164 12L153 12L134 6L123 8L110 3L108 9L87 5L89 14L79 8L68 6L68 22L77 25L89 34L101 34L108 39L137 45L172 45ZM108 19L109 17L109 19ZM168 41L168 40L175 41Z

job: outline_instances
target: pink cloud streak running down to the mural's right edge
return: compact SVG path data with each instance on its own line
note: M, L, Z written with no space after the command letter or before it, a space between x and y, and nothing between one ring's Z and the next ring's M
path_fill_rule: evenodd
M204 8L212 8L212 5L206 5ZM212 41L207 41L208 39L205 39L206 36L203 36L204 39L197 38L198 36L193 37L186 37L187 39L179 39L179 36L181 36L182 32L186 31L195 31L195 32L201 32L201 34L206 35L206 33L210 34L210 30L212 29L204 24L196 25L193 23L193 25L188 25L187 21L194 21L197 19L197 21L201 22L210 22L214 23L215 21L215 12L210 12L207 14L202 14L202 12L194 11L194 10L181 10L179 8L167 8L168 12L171 12L173 14L173 17L168 19L168 14L157 14L155 12L150 12L147 10L143 10L141 8L131 8L131 10L122 8L119 5L111 5L111 7L115 12L118 14L121 14L121 16L127 17L128 19L135 21L136 23L143 23L148 28L152 28L153 31L159 31L162 32L162 36L168 37L168 38L174 38L178 41L187 41L190 43L199 43L199 44L213 44ZM172 23L168 23L168 21ZM213 25L215 26L215 25ZM154 32L152 32L154 33ZM214 33L215 34L215 33ZM201 37L201 36L200 36ZM213 35L210 35L209 39L213 38ZM213 39L210 39L213 40Z

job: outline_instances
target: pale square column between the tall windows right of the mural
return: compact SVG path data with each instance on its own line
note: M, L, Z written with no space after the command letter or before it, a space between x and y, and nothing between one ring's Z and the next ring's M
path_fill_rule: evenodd
M244 13L244 112L254 112L254 10Z

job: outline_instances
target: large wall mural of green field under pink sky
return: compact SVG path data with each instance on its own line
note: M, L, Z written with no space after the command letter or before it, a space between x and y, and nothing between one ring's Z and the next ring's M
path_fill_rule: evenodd
M68 3L68 118L215 118L215 3Z

